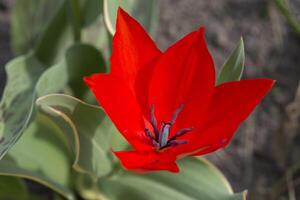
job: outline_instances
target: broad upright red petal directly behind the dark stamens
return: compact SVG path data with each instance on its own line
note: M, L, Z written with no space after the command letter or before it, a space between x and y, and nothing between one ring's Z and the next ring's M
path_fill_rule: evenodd
M204 28L200 28L160 57L150 81L149 104L154 104L158 121L167 121L183 103L175 125L184 128L199 121L214 84L214 64L206 47Z

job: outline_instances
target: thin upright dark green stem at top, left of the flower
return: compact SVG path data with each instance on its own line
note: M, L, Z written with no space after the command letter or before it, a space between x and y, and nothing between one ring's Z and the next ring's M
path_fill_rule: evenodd
M80 7L78 0L69 0L72 11L72 23L73 23L73 32L75 42L81 41L81 16L80 16Z

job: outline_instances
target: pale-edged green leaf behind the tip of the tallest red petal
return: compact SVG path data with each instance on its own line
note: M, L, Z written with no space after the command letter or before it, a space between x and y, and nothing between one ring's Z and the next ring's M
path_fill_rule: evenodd
M118 7L122 7L137 19L150 34L154 34L157 25L159 5L157 0L104 0L104 21L109 32L115 33Z

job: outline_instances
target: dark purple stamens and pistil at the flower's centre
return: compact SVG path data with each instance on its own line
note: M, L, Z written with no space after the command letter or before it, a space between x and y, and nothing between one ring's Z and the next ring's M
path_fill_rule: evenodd
M152 105L150 108L150 123L153 128L153 132L145 128L145 135L151 140L152 145L157 150L163 150L167 147L174 147L180 144L186 144L187 140L177 140L178 137L192 131L192 128L183 128L177 131L174 136L170 137L171 127L175 124L177 116L183 109L183 104L175 110L172 115L172 118L169 122L161 122L160 128L157 126L157 120L154 115L154 106Z

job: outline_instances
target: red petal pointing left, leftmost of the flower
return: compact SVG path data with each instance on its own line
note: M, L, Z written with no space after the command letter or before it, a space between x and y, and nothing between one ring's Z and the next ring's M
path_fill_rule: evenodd
M84 81L127 141L134 148L143 149L143 117L129 87L122 80L107 74L94 74L84 78Z

